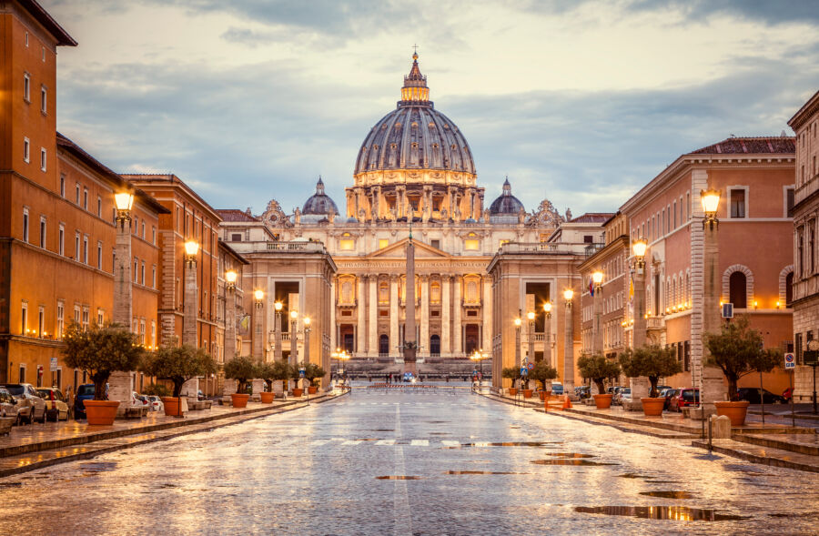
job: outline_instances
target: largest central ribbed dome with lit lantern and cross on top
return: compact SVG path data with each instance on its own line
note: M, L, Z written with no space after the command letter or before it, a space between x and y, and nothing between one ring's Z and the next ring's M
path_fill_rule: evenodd
M418 54L412 60L398 106L372 127L361 144L355 175L423 169L466 174L474 184L470 146L458 126L430 101L430 88L427 77L420 73Z

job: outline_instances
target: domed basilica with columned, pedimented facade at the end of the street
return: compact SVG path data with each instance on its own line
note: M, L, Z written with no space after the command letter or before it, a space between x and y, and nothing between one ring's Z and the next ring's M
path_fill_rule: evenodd
M219 211L221 238L252 259L273 258L283 250L315 254L319 249L332 259L335 271L327 276L329 325L308 343L311 352L324 355L343 348L353 357L400 359L408 299L416 303L420 362L490 351L491 259L506 243L545 243L571 213L561 215L548 200L527 212L512 195L508 179L501 196L487 206L469 143L430 100L417 55L404 76L396 108L369 130L351 159L352 186L346 189L342 209L319 177L315 194L292 213L285 213L275 199L260 215L249 209ZM408 284L410 233L415 280ZM244 355L262 351L265 355L257 357L270 359L270 350L275 351L275 344L267 344L275 339L275 302L283 304L279 314L298 310L296 318L302 313L323 315L310 311L315 307L301 291L313 276L266 271L248 278L255 288L245 288L246 295L262 289L268 313L260 333L266 339L264 349L248 343L241 350ZM292 326L288 321L281 324L282 331L290 329L303 333L298 320ZM303 342L290 343L287 335L282 339L284 354L303 355Z

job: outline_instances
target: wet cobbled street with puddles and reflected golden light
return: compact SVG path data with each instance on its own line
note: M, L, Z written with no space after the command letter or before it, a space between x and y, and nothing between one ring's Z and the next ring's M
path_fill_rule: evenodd
M460 389L351 396L0 480L0 533L815 533L819 479Z

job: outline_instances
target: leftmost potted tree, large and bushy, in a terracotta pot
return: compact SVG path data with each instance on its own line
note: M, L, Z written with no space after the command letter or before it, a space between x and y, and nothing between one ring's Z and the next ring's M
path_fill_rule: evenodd
M136 335L118 324L83 329L72 322L63 342L66 365L85 370L94 382L94 399L84 402L88 424L114 424L119 401L108 399L106 385L112 372L129 372L139 366L143 349L136 344Z

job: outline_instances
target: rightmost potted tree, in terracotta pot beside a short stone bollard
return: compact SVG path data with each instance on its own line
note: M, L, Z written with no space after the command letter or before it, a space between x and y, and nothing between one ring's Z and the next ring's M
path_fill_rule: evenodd
M751 328L747 315L724 324L720 333L705 335L705 346L711 354L706 364L719 367L728 380L728 400L714 403L717 415L726 415L732 426L742 426L750 402L738 400L736 384L754 371L770 372L779 362L773 350L763 349L763 337Z

